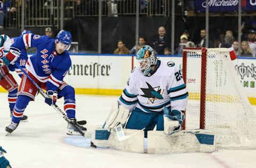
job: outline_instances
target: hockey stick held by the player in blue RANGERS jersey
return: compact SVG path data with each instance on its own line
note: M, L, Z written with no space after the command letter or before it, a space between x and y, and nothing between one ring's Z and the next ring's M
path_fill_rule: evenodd
M44 98L50 98L50 97L44 92L44 90L43 90L41 87L39 87L39 86L37 85L37 83L36 83L31 77L29 77L28 73L27 73L25 70L23 70L17 62L15 62L15 65L17 65L18 68L28 77L28 79L33 83L33 85L35 85L35 87L38 89L39 93L40 93ZM54 108L55 111L57 111L60 115L62 115L63 119L65 119L68 123L70 123L71 125L73 125L73 127L75 127L75 128L77 129L77 131L84 137L84 132L83 132L79 127L77 127L77 125L75 125L73 122L71 122L71 120L67 117L67 115L66 115L64 112L62 112L62 110L61 110L56 104L52 105L52 107Z

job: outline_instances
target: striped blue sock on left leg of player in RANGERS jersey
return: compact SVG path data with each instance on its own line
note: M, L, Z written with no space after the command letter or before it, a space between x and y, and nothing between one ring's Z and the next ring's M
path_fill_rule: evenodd
M14 106L14 110L12 113L12 121L15 123L19 123L25 108L27 107L28 103L30 102L30 97L25 95L20 95L17 98L17 101Z

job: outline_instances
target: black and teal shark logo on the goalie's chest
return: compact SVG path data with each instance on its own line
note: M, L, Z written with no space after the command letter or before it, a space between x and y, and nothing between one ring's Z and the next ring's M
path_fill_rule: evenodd
M147 97L148 98L148 104L149 102L154 103L156 99L163 99L163 93L164 89L160 89L160 86L157 87L152 87L148 82L146 82L148 88L140 88L144 95L141 95L142 97Z

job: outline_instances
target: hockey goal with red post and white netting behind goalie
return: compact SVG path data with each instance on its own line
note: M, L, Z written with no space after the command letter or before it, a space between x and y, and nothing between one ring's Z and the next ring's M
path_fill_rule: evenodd
M215 133L218 147L255 147L256 119L228 48L183 49L189 92L183 129Z

